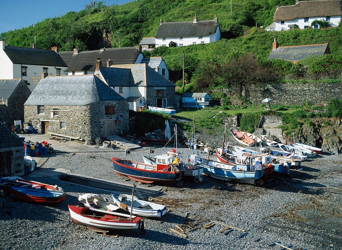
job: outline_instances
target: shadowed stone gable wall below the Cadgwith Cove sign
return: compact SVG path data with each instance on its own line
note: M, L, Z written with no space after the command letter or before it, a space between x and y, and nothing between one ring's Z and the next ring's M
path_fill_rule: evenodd
M5 105L0 105L0 119L7 125L14 125L14 121L24 121L24 103L31 91L22 80L13 91ZM1 94L0 94L1 99Z

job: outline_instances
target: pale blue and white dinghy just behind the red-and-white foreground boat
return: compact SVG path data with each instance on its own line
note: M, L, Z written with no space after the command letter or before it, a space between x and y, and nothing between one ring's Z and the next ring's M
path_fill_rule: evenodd
M131 207L132 195L111 194L111 196L117 206L120 206L127 212L130 212L132 209L132 214L137 216L161 218L166 213L166 206L145 202L144 200L138 199L136 196L133 196L133 208Z

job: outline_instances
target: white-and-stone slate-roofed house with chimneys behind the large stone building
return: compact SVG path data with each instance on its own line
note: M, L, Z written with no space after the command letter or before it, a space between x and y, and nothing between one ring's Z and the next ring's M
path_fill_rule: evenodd
M175 106L175 85L148 65L110 65L108 61L107 66L102 67L99 61L95 75L125 98L131 110L137 111L140 106Z

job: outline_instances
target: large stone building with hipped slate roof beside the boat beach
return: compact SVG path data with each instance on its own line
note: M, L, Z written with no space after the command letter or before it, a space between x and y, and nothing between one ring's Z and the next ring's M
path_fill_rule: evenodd
M128 130L127 101L95 75L42 78L24 104L25 121L42 133L94 143Z

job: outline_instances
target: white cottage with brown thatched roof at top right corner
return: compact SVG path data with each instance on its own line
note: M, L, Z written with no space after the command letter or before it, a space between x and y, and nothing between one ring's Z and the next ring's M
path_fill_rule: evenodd
M296 24L300 29L311 27L312 22L325 20L330 26L338 26L341 21L341 2L339 0L296 0L294 5L276 6L273 21L266 27L268 31L280 31L293 28ZM318 24L312 26L319 29Z

